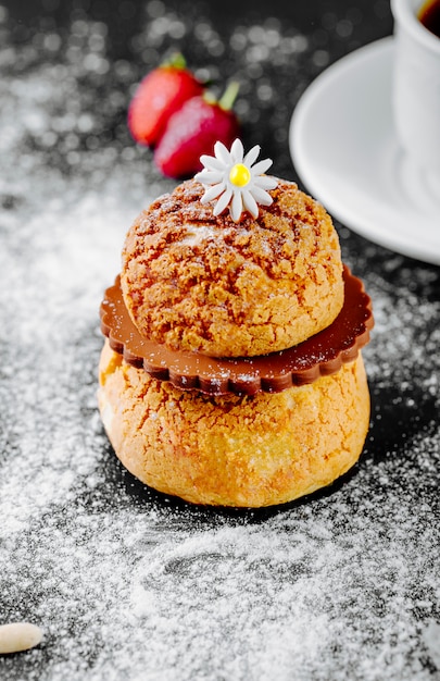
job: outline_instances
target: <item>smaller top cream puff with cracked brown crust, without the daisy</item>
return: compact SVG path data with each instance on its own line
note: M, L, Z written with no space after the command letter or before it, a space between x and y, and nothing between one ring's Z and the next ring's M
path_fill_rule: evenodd
M339 240L330 216L296 184L235 223L201 203L191 179L135 221L123 250L124 301L139 332L174 350L265 355L297 345L343 304Z

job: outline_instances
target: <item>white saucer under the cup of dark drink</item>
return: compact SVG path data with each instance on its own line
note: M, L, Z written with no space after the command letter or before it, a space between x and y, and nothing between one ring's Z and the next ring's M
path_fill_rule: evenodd
M440 264L440 177L400 149L391 116L393 39L329 66L301 97L290 152L307 190L340 222L391 250Z

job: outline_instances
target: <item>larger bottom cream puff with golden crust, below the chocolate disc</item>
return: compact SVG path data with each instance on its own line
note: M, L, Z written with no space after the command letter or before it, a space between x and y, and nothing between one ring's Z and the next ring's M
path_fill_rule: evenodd
M326 486L359 459L369 424L362 355L336 374L252 397L180 391L105 342L99 408L122 463L203 505L263 507Z

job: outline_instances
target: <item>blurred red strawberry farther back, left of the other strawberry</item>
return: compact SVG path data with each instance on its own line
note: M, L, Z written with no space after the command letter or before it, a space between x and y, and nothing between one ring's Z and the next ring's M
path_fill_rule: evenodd
M155 145L169 116L187 99L203 92L203 84L185 66L184 57L177 54L140 83L128 108L128 127L139 144Z

